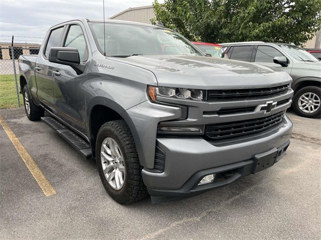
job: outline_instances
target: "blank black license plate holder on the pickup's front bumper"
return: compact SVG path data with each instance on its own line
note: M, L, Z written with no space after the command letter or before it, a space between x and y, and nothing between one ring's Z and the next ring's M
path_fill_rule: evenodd
M271 150L256 154L254 156L254 168L253 168L253 174L262 171L270 166L273 166L276 155L277 155L277 148L273 147Z

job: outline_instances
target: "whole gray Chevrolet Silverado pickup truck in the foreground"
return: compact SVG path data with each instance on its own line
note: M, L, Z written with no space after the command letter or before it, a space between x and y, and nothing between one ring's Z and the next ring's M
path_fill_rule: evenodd
M122 204L226 185L272 166L290 143L288 73L207 57L162 26L63 22L19 67L28 118L95 158Z

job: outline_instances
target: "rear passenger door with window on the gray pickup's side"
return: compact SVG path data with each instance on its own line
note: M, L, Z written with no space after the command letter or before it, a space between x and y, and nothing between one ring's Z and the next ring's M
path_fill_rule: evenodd
M38 54L35 75L37 81L38 99L49 108L54 106L54 90L53 90L53 71L59 65L48 60L50 47L60 46L64 26L52 29L46 41L43 51Z

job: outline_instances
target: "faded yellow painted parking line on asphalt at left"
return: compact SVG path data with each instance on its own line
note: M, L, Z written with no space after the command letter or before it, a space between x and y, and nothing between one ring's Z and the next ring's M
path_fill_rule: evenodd
M21 158L24 160L26 166L30 170L31 174L34 176L36 181L38 182L39 186L43 190L46 196L51 196L56 194L55 188L50 184L46 176L42 173L42 171L37 166L37 163L31 158L29 153L27 152L26 148L21 144L18 137L15 133L11 130L8 123L2 118L0 115L0 123L5 129L7 135L9 136L10 140L16 147L18 153L20 154Z

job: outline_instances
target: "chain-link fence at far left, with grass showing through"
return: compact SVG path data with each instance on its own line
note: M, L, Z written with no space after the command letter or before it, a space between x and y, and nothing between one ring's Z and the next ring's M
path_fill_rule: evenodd
M37 43L0 43L0 108L20 107L18 58L20 55L38 54L39 49L40 44Z

